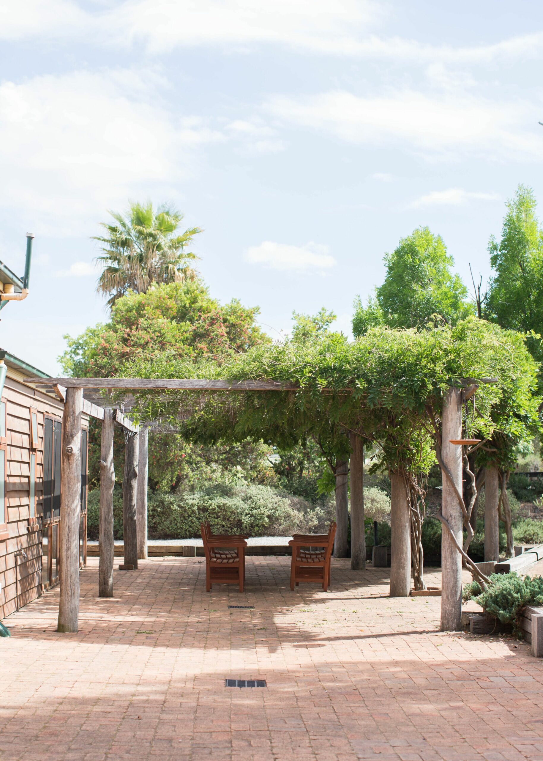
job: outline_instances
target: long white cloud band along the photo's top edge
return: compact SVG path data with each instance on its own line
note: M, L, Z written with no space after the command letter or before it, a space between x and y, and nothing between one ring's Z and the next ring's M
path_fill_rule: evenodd
M376 0L125 0L84 10L74 0L3 0L0 39L84 39L97 45L147 45L154 53L176 47L262 43L300 51L416 65L488 64L541 56L543 33L473 46L434 45L369 33L389 9Z

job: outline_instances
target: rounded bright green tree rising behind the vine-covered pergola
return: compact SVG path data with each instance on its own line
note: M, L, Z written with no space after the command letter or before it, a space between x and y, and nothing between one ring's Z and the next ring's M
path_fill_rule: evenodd
M421 328L440 318L449 325L472 314L468 291L451 272L452 256L443 238L418 228L385 254L386 277L376 289L377 302L389 327ZM376 305L369 304L375 317ZM370 316L369 315L369 316Z

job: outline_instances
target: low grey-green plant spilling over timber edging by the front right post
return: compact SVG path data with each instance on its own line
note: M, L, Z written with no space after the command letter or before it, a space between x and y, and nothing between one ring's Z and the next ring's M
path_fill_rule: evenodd
M521 637L522 610L527 605L543 605L543 578L506 573L492 574L490 581L491 584L484 591L478 581L466 584L463 600L475 600L485 613L502 623L512 624L513 632Z

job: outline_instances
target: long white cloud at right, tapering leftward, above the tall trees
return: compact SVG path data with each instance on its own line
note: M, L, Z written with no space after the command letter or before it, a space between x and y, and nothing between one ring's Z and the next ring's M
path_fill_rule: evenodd
M263 110L284 124L329 132L348 142L407 146L431 157L543 158L537 104L519 100L492 101L462 92L434 96L399 90L360 97L332 91L278 95Z

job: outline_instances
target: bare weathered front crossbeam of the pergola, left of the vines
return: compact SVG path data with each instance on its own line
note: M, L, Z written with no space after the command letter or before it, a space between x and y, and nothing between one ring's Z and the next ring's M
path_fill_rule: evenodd
M281 384L271 380L203 380L200 378L25 378L37 388L103 388L171 391L298 391L297 384Z

